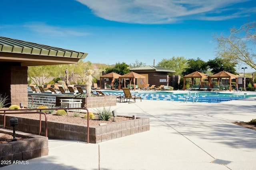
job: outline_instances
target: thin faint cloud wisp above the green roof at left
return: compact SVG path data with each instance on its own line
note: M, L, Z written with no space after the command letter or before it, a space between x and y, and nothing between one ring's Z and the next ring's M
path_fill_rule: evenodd
M74 31L70 28L63 28L57 26L47 25L42 22L30 22L24 25L25 28L31 31L40 33L41 35L56 36L56 37L66 37L66 36L86 36L89 33L82 31Z

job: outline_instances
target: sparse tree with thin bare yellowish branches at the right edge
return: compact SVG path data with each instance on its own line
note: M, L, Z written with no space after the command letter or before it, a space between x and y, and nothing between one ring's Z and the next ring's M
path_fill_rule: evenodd
M256 21L240 28L231 28L229 36L221 35L215 39L218 42L218 56L256 69Z

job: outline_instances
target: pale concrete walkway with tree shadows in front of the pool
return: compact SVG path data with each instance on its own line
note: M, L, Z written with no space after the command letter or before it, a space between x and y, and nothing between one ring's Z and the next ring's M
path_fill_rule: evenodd
M256 100L216 104L142 100L118 115L150 117L150 131L86 144L49 140L49 155L3 170L255 170L256 131L231 122L256 119Z

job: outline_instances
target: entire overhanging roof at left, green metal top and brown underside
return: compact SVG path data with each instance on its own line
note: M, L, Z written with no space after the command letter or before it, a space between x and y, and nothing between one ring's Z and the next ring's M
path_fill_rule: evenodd
M0 37L0 62L17 62L22 66L72 64L87 55L78 51Z

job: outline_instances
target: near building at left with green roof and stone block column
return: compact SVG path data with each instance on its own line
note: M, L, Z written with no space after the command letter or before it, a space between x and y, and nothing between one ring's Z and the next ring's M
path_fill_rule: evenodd
M88 54L0 37L0 94L8 105L28 106L28 66L75 64Z

